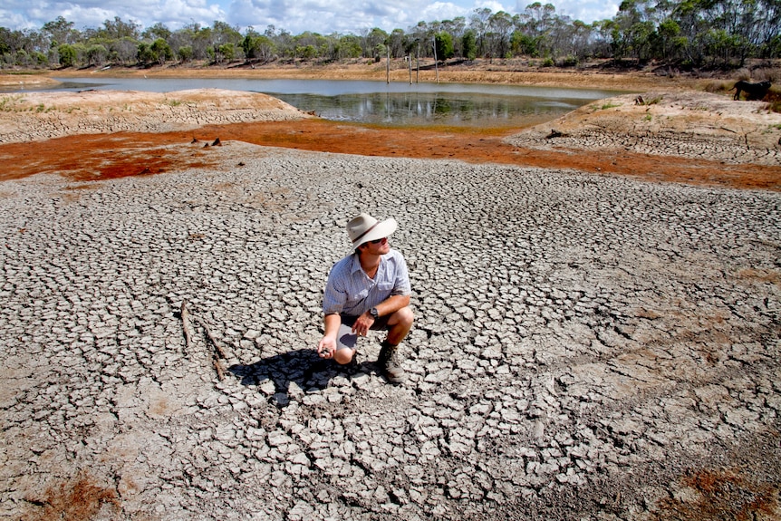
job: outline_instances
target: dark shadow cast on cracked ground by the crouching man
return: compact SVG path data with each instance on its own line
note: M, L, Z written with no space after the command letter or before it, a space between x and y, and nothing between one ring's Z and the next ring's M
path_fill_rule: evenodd
M352 378L361 373L369 374L372 369L370 362L342 366L320 358L313 349L297 349L248 365L232 365L228 371L240 378L242 385L263 385L265 381L272 381L275 386L273 399L277 406L285 407L290 401L291 382L304 393L323 391L336 376Z

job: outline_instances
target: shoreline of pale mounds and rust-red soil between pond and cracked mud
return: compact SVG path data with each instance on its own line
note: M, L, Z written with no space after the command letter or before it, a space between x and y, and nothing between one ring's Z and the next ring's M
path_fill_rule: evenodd
M227 91L8 94L2 178L113 178L207 164L219 138L366 156L462 159L651 180L781 189L781 114L759 101L654 91L591 103L530 129L398 130L313 119ZM56 139L53 139L56 138ZM35 145L24 141L38 140ZM598 154L593 153L599 150ZM140 160L144 159L144 160ZM204 163L206 162L206 163Z

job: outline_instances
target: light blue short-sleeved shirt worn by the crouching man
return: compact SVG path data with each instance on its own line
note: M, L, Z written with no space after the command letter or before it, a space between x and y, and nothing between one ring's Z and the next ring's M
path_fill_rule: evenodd
M352 254L331 268L323 294L323 314L358 316L390 295L411 293L407 262L398 251L391 249L380 257L373 279L362 270L358 255Z

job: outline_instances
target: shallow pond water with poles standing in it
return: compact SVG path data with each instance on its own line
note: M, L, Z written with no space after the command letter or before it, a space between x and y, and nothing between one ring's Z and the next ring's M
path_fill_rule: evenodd
M174 92L215 88L264 92L328 120L406 127L524 126L554 120L590 101L619 93L521 85L352 80L84 77L59 81L62 85L47 90Z

